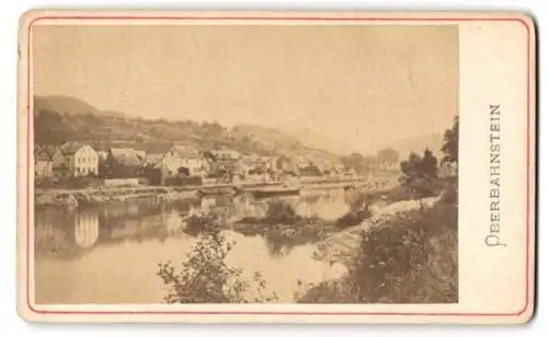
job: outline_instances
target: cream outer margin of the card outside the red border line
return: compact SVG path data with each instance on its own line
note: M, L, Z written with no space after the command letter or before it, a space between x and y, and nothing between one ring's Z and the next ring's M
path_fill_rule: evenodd
M160 15L169 13L171 15L204 15L207 16L222 16L222 15L233 15L237 16L244 14L246 16L338 16L338 18L356 18L356 16L416 16L416 18L448 18L455 15L461 15L463 18L472 16L494 16L494 18L513 18L515 20L522 21L527 30L530 32L530 200L536 202L535 188L536 188L536 30L534 25L534 19L525 13L516 12L496 12L496 13L467 13L467 12L429 12L429 13L408 13L408 12L397 12L397 13L386 13L386 12L364 12L364 13L329 13L329 12L312 12L312 13L295 13L295 12L141 12L139 15ZM19 28L19 59L18 59L18 144L19 148L26 144L26 124L27 124L27 112L25 95L27 92L26 82L24 81L27 69L24 65L24 60L28 56L27 50L27 33L30 26L38 20L42 15L75 15L75 14L89 14L89 15L121 15L121 14L136 14L135 11L52 11L52 10L31 10L25 13L20 19ZM31 135L32 137L32 135ZM24 241L26 239L26 228L24 225L26 220L26 184L24 181L25 174L27 174L25 167L23 166L26 160L26 153L24 151L18 151L18 303L16 310L20 317L26 322L193 322L193 323L459 323L459 324L524 324L529 322L534 317L535 310L535 216L536 216L536 204L532 204L529 208L530 212L530 223L529 223L529 240L532 245L529 245L529 301L522 312L513 316L421 316L421 315L240 315L240 314L226 314L226 315L136 315L136 314L116 314L116 315L96 315L96 314L85 314L85 315L73 315L73 316L62 316L59 314L43 314L35 311L31 303L27 301L26 297L26 279L28 277L25 269L25 262L27 257L27 252L25 249Z

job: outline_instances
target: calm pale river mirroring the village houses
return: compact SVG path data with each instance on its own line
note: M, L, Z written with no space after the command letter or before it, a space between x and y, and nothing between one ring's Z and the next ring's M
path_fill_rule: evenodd
M308 190L288 197L301 216L336 219L350 209L342 189ZM182 217L222 212L228 219L261 217L269 200L250 196L179 200L137 200L76 209L37 207L35 211L35 294L38 304L160 303L165 294L158 264L176 267L196 242ZM279 302L293 302L298 281L319 283L345 272L341 265L312 258L313 244L279 252L262 236L225 231L237 244L227 257L251 277L262 274Z

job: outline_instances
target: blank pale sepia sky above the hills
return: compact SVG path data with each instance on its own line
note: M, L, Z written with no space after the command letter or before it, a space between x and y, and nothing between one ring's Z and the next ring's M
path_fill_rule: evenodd
M368 150L458 114L453 25L38 25L33 90Z

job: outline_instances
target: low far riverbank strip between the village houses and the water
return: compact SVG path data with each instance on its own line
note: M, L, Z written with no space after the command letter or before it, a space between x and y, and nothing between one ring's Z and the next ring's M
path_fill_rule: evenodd
M365 186L377 184L378 182L367 182L365 179L309 179L301 182L302 190L344 188L351 186ZM242 183L239 187L256 188L281 186L283 183ZM232 190L235 184L212 184L201 186L117 186L117 187L89 187L81 189L49 189L36 188L34 191L35 206L68 206L78 207L82 204L102 204L109 201L130 201L141 198L157 199L184 199L197 196L198 190ZM373 187L373 185L372 185Z

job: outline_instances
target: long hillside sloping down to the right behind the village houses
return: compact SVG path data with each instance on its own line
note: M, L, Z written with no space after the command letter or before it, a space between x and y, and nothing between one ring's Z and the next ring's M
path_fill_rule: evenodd
M117 146L163 152L173 143L193 143L206 150L228 147L247 154L298 154L338 161L338 155L329 151L306 147L298 138L267 127L238 125L229 129L218 123L135 118L100 111L70 96L36 96L34 130L41 144L77 140L98 149Z

